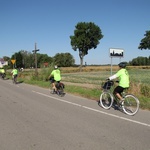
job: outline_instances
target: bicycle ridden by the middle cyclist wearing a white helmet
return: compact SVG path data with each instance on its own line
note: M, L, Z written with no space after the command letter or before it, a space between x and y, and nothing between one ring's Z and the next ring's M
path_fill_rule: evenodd
M65 92L64 92L65 85L62 82L56 82L55 86L57 88L57 91L55 91L54 89L52 89L51 79L50 79L50 85L49 85L49 91L50 91L50 93L51 94L57 94L57 95L63 97L65 95Z

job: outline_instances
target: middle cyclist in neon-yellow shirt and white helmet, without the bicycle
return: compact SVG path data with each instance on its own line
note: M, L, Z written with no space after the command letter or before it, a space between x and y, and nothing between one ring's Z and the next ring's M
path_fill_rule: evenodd
M54 66L54 70L49 75L49 79L51 80L53 91L57 92L57 87L55 85L61 81L61 73L56 65Z

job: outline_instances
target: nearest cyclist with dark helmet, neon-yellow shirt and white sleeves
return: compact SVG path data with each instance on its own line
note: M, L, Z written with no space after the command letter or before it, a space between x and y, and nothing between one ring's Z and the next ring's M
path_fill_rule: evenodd
M129 74L126 70L126 62L121 62L118 64L119 71L110 76L108 80L113 80L116 78L119 78L119 85L114 89L113 94L120 100L120 102L123 101L123 98L121 96L121 93L124 91L124 89L129 88Z

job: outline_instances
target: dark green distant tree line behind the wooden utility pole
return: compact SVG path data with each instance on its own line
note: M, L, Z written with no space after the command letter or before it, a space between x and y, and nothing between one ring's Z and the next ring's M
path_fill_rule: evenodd
M31 52L21 50L14 53L11 58L4 56L5 61L8 61L10 68L13 68L11 60L16 60L14 66L17 68L34 68L35 67L35 55ZM57 53L54 57L50 57L47 54L36 54L37 67L49 67L51 65L58 65L59 67L70 67L75 64L75 59L70 53Z

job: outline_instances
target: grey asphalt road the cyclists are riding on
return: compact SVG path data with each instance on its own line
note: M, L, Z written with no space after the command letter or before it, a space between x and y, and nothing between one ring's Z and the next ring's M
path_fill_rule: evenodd
M128 116L0 80L0 150L150 150L150 111Z

